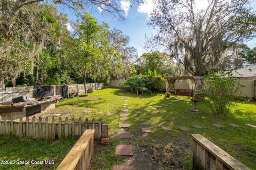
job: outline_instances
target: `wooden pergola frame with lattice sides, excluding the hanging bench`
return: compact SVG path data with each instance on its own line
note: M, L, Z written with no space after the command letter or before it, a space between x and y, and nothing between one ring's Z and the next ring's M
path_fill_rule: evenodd
M174 94L176 93L176 89L174 86L174 83L176 80L194 80L195 83L195 88L193 89L193 99L195 97L195 94L202 94L202 90L201 90L201 82L203 80L202 76L175 76L175 77L164 77L165 79L167 79L167 84L166 84L166 94L164 99L166 98L168 92L174 92Z

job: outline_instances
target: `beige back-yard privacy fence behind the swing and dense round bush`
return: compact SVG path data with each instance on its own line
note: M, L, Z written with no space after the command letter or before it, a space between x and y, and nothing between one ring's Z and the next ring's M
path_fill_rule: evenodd
M111 80L109 85L119 87L121 82L124 82L124 80ZM244 86L242 96L256 98L256 82L254 80L240 80L240 83ZM167 82L164 82L160 90L166 91L166 84ZM192 80L176 80L174 86L176 89L194 89L195 84Z

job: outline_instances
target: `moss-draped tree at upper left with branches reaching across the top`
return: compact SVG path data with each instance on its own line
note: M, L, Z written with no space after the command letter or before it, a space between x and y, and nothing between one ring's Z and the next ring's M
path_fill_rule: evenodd
M131 2L140 4L142 0L132 0ZM12 74L13 78L16 77L21 72L17 68L13 69L17 65L20 66L19 68L32 68L33 59L31 56L42 52L43 42L47 39L46 35L52 32L50 27L54 27L54 24L49 25L50 21L47 23L47 17L45 18L44 14L38 12L38 10L49 4L55 4L56 6L62 4L77 11L88 8L88 10L94 12L109 14L112 17L125 20L125 11L122 9L119 0L1 0L0 88L4 88L4 75L8 73ZM51 11L56 10L52 9L48 12ZM38 22L36 18L40 18L42 21L39 20ZM49 32L47 33L47 31ZM26 42L24 42L24 39ZM28 43L28 41L30 42ZM28 56L30 56L29 59ZM26 62L22 63L22 61ZM6 66L10 66L10 69Z

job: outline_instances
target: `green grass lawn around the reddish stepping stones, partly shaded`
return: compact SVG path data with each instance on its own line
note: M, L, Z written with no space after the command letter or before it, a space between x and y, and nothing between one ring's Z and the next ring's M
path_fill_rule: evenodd
M128 111L121 111L124 109L125 96L128 96ZM110 145L102 146L98 145L100 142L95 142L95 154L90 168L92 170L112 170L113 165L132 165L136 169L152 170L192 169L191 133L203 135L252 170L256 170L256 128L244 125L245 123L256 125L255 102L239 102L238 106L230 110L228 117L216 118L203 102L198 103L200 112L193 112L194 103L190 101L190 97L170 96L166 100L163 98L164 93L143 97L117 88L106 88L90 93L88 96L58 102L55 109L48 113L36 115L36 117L50 117L60 113L62 119L74 117L78 120L79 117L82 117L82 120L85 121L87 117L89 121L92 121L92 118L97 121L101 118L109 127ZM149 111L144 111L144 109L149 109ZM92 111L92 113L85 114L83 113L85 110ZM141 113L135 113L135 111ZM96 112L102 113L95 114ZM107 113L113 113L113 115L107 116ZM121 113L127 113L129 119L120 120ZM119 123L130 124L126 131L131 132L131 139L116 137L118 131L124 131L118 127ZM211 125L217 123L223 127ZM240 127L232 127L228 123L234 123ZM193 127L194 124L199 124L202 128ZM171 130L162 130L161 126L170 127ZM150 128L152 133L142 133L142 127ZM188 127L191 130L182 131L179 127ZM71 139L73 140L73 138ZM0 143L1 160L8 160L11 155L13 155L12 159L15 160L28 158L26 156L20 157L17 152L8 151L6 149L7 143L6 141ZM116 156L116 145L121 144L131 144L134 156ZM70 147L67 147L68 144L65 146L70 150ZM29 146L24 146L25 150L29 150L29 148ZM45 147L45 150L48 149ZM12 153L7 155L6 152ZM30 150L30 152L34 151ZM3 157L2 155L6 156ZM42 156L40 152L38 156L32 154L32 157L29 158L33 159L39 156ZM55 159L54 155L51 158ZM61 161L63 158L58 159ZM30 168L30 166L26 168ZM36 166L33 168L39 169Z

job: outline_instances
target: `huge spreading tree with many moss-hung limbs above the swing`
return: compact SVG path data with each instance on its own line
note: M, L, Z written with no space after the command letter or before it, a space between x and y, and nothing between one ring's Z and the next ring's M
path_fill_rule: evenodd
M148 47L163 45L180 68L201 76L226 49L255 37L256 17L250 0L206 0L205 9L197 3L201 2L156 0L149 25L158 28L158 33L148 39Z

